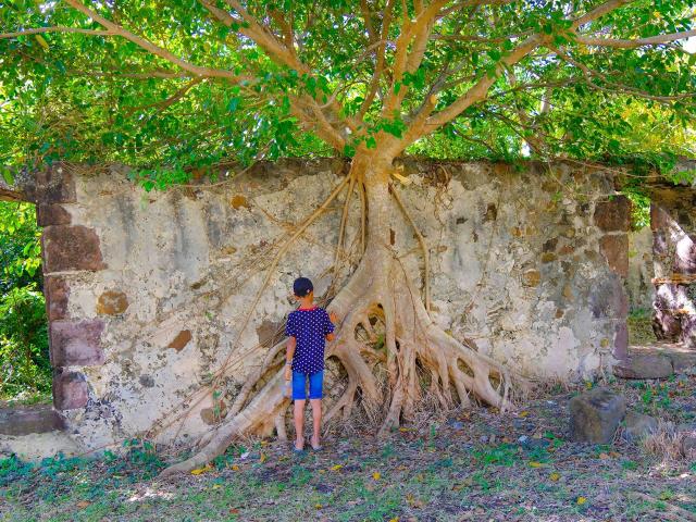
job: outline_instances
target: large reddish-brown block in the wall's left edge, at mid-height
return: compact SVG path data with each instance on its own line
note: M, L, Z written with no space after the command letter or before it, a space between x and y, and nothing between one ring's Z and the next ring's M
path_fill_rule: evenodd
M44 228L44 272L103 270L99 237L92 228L75 225Z

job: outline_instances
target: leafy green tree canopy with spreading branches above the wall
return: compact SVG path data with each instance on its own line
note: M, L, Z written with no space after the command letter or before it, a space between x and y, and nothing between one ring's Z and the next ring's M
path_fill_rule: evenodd
M693 156L694 0L0 0L0 164Z

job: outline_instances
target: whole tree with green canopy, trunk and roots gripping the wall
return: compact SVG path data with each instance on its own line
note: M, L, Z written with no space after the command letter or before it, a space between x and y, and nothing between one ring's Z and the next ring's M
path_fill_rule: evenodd
M388 217L399 211L410 221L390 183L395 159L409 150L645 154L635 138L645 136L650 115L676 135L695 112L694 57L680 46L696 35L692 0L7 5L0 41L10 67L0 85L10 107L5 124L16 132L0 150L9 161L121 159L140 165L141 183L152 188L225 158L240 165L327 151L350 158L349 174L283 244L269 277L341 191L346 209L355 192L364 200L363 256L330 306L343 318L330 352L348 386L327 417L349 415L360 390L363 405L388 403L383 432L412 415L426 393L418 368L443 405L455 391L463 405L473 394L504 409L517 381L472 341L433 324L427 249L423 296L415 274L393 256ZM680 150L659 142L647 153ZM384 355L355 336L359 328L374 339L374 324L384 333ZM282 348L271 349L200 451L167 472L211 460L241 432L273 427L286 407L282 375L264 377ZM372 372L375 360L386 366L386 391Z

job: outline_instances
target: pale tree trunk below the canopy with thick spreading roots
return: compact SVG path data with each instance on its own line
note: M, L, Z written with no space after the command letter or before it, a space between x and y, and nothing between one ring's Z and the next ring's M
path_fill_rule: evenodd
M348 419L359 397L361 407L368 410L388 405L380 427L380 434L385 434L412 418L426 393L437 397L443 408L453 405L456 398L469 406L473 395L505 410L510 406L509 373L478 353L473 343L460 343L433 323L411 274L389 246L387 217L393 206L387 172L359 177L364 181L368 202L368 240L356 272L327 307L341 321L326 356L343 365L347 385L330 405L325 420L337 415ZM283 396L284 368L277 364L283 348L284 343L273 347L262 366L249 375L225 421L201 440L199 451L165 469L163 475L207 464L243 434L269 435L275 428L285 437L289 401ZM387 386L376 377L377 365L386 370ZM269 372L270 380L262 381ZM430 378L423 380L423 373ZM424 381L428 382L426 389Z

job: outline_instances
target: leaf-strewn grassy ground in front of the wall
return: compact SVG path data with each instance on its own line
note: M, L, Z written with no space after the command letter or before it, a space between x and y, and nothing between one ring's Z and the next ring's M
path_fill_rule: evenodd
M696 422L696 373L610 387L630 408ZM696 462L667 461L617 439L568 440L556 387L524 410L452 411L386 439L334 435L296 457L273 440L237 444L197 474L162 481L160 457L135 443L127 458L0 461L3 521L696 520ZM680 511L683 510L683 511Z

